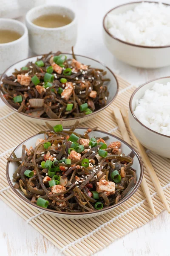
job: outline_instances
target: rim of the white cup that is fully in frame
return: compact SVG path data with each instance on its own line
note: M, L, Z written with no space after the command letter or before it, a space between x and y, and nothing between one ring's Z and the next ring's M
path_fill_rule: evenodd
M42 27L42 26L37 26L35 25L31 19L30 19L30 15L35 12L36 10L40 10L40 9L43 9L43 8L48 8L48 7L62 7L64 9L67 9L69 10L70 12L72 12L74 14L74 18L73 20L71 21L71 23L65 25L65 26L61 26L61 27L57 27L57 28L45 28L45 27ZM29 23L29 25L37 28L37 29L40 29L40 30L47 30L47 31L58 31L58 30L62 30L63 28L68 28L69 26L72 26L73 23L75 23L75 21L77 20L77 14L73 11L73 9L71 8L68 8L68 7L65 7L65 6L60 6L60 5L57 5L57 4L51 4L51 5L41 5L41 6L36 6L36 7L33 7L31 8L27 13L26 13L26 22Z

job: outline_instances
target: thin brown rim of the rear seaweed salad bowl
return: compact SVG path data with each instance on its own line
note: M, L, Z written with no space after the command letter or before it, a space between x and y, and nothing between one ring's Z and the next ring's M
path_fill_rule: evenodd
M51 53L51 55L53 55L53 54L55 54L55 53ZM71 55L71 53L67 53L67 52L62 52L62 54ZM25 59L23 59L23 60L21 60L21 61L26 61L26 60L29 60L30 58L40 57L40 56L42 56L42 55L45 55L45 54L35 55L35 56L29 57L29 58L25 58ZM96 61L94 58L90 58L90 57L87 57L87 56L84 56L84 55L75 54L75 56L79 56L79 57L83 57L83 58L90 59L90 60L92 60L92 61ZM7 72L11 67L15 66L17 63L20 63L21 61L17 61L16 63L14 63L14 64L11 65L10 67L8 67L8 68L3 72L3 74L0 76L0 84L1 84L1 80L3 79L3 76L6 74L6 72ZM66 118L66 119L52 119L52 118L42 118L42 117L29 116L29 115L26 114L26 113L22 113L22 112L19 113L16 108L12 107L12 106L7 102L7 100L3 97L4 94L2 93L1 90L0 90L0 98L3 100L3 102L4 102L9 108L12 109L12 111L15 111L15 112L18 113L18 114L21 114L21 115L23 115L23 116L27 116L27 117L30 117L30 118L33 118L33 119L44 120L44 122L45 122L45 121L63 121L63 122L64 122L64 121L73 121L73 120L83 119L83 118L88 117L88 116L93 116L94 114L99 113L100 111L103 111L105 108L108 108L108 106L113 103L114 99L116 99L116 96L117 96L118 91L119 91L119 82L118 82L118 80L117 80L115 74L111 71L111 69L110 69L108 66L106 66L106 65L105 65L104 63L102 63L101 61L96 61L96 62L99 63L99 64L101 64L103 67L105 67L107 70L109 70L109 71L111 72L111 74L113 75L114 79L116 80L116 87L117 87L117 88L116 88L116 93L115 93L113 99L111 99L111 101L108 102L107 105L105 105L104 107L98 109L97 111L94 111L93 113L91 113L91 114L89 114L89 115L87 115L87 116L79 116L79 117Z

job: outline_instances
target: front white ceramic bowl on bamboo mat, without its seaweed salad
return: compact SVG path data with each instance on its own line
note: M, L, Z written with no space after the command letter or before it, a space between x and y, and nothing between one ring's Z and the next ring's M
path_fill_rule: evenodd
M87 130L87 128L77 128L75 130L75 132L79 133L79 134L84 134L84 132ZM130 154L131 151L133 151L134 153L134 158L133 158L133 169L136 169L136 177L137 177L137 183L136 185L130 190L130 192L125 196L125 198L123 198L121 201L119 201L117 204L112 205L110 207L106 207L103 208L102 210L96 210L94 212L79 212L79 213L72 213L72 212L57 212L55 210L52 209L44 209L42 207L37 206L36 204L31 203L31 201L29 201L24 195L23 193L20 191L20 189L15 189L14 188L14 184L15 182L13 181L13 173L15 172L16 168L17 168L17 164L14 162L9 162L7 163L6 166L6 175L7 175L7 179L8 179L8 183L11 186L11 188L13 189L13 191L20 197L22 198L24 201L28 202L28 204L30 204L31 206L39 209L41 212L44 213L48 213L50 215L54 215L56 217L59 218L74 218L74 219L78 219L78 218L92 218L101 214L104 214L106 212L111 211L112 209L115 209L116 207L118 207L120 204L122 204L123 202L125 202L127 199L129 199L138 189L141 181L142 181L142 177L143 177L143 164L142 164L142 160L139 157L139 155L136 153L136 151L134 151L133 148L131 148L131 146L127 143L125 143L125 141L119 139L116 136L113 136L112 134L108 134L107 132L103 132L103 131L92 131L90 133L91 137L105 137L105 136L109 136L109 140L107 140L107 143L111 143L113 141L117 141L119 140L122 144L121 149L122 152L125 153L125 155ZM23 143L21 143L20 145L17 146L17 148L14 149L14 152L16 154L17 157L21 156L21 152L22 152L22 145L26 145L27 148L29 148L31 145L34 147L35 143L37 141L37 138L44 138L44 134L36 134L34 136L32 136L31 138L25 140ZM11 156L12 157L12 154Z

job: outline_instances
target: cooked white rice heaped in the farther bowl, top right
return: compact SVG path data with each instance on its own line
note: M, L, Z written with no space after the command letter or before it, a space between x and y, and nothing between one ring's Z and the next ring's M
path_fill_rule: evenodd
M108 14L106 26L114 37L132 44L170 45L170 6L141 3L134 10Z

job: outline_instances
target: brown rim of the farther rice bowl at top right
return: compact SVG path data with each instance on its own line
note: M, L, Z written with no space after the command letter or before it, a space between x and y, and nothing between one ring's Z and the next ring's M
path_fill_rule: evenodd
M109 10L109 11L105 14L105 16L104 16L104 18L103 18L103 28L104 28L105 32L106 32L108 35L110 35L113 39L115 39L115 40L117 40L117 41L119 41L119 42L121 42L121 43L123 43L123 44L130 45L130 46L141 47L141 48L148 48L148 49L159 49L159 48L167 48L167 47L170 47L170 45L164 45L164 46L147 46L147 45L140 45L140 44L132 44L132 43L123 41L123 40L121 40L121 39L119 39L119 38L116 38L116 37L113 36L113 35L108 31L108 29L106 28L106 26L105 26L105 19L106 19L107 15L108 15L110 12L112 12L113 10L118 9L119 7L122 7L122 6L130 5L130 4L133 4L133 3L143 3L143 2L144 2L144 3L157 3L157 4L159 4L159 2L156 2L156 1L154 1L154 2L151 2L151 1L139 1L139 2L124 3L124 4L121 4L121 5L119 5L119 6L114 7L113 9ZM168 4L168 3L162 3L162 4L167 5L167 6L170 6L170 4Z

